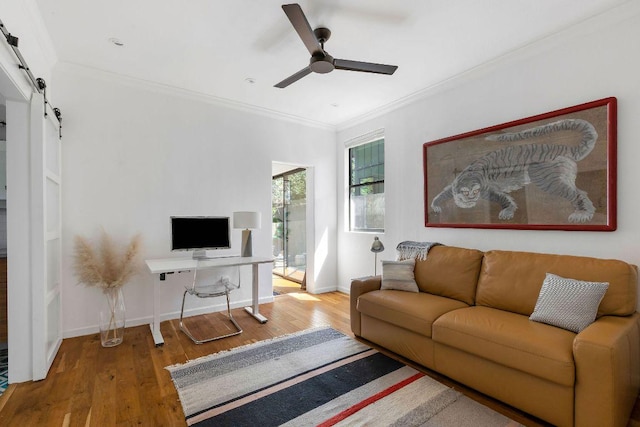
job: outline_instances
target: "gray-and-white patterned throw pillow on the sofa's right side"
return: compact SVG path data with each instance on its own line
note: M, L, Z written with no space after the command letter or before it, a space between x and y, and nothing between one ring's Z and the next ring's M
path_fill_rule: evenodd
M579 333L596 320L609 283L566 279L547 273L530 320Z

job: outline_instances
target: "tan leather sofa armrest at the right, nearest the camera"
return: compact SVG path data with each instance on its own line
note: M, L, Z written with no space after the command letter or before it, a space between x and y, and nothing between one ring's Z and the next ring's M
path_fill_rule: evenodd
M640 389L640 314L603 316L573 342L575 425L626 426Z

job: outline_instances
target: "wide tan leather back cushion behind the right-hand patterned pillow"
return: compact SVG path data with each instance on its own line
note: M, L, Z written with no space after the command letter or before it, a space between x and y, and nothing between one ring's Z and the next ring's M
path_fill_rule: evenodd
M608 282L597 317L636 311L638 272L624 261L530 252L484 254L476 305L530 316L547 273L589 282ZM418 285L420 283L418 282Z

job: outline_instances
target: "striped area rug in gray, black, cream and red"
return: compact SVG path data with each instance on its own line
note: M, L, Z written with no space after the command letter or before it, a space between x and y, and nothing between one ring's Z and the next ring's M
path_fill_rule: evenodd
M167 370L190 426L517 425L328 327Z

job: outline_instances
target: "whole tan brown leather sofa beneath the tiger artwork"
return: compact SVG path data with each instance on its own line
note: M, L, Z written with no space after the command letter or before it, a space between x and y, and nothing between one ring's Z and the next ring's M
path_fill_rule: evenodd
M558 426L626 426L640 389L634 265L568 255L433 247L420 292L351 283L351 329ZM582 332L529 320L546 273L608 282Z

